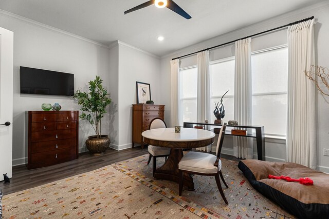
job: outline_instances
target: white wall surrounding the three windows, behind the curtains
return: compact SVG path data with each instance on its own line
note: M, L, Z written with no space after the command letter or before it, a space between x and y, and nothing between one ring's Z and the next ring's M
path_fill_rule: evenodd
M290 12L278 17L273 17L267 21L254 24L243 29L233 31L221 36L217 36L207 41L192 45L190 47L181 49L172 54L161 57L160 61L160 79L162 90L160 99L163 104L166 104L165 116L167 124L170 121L170 60L172 58L209 48L215 45L220 45L226 42L233 41L241 37L259 33L271 28L276 28L285 24L289 24L306 17L315 16L318 23L315 25L315 43L316 43L316 64L320 66L329 67L329 42L327 36L329 35L329 3L324 2L312 7L307 7L298 11ZM215 28L215 27L214 27ZM218 27L220 28L220 27ZM252 38L252 50L260 50L280 44L285 44L286 29L277 31L275 33L266 34ZM234 55L234 46L227 45L220 49L214 49L210 52L210 59L220 59ZM196 65L196 55L182 58L181 67ZM317 96L317 144L318 144L318 169L324 172L329 172L329 156L323 156L323 148L329 148L329 117L327 112L329 109L329 98L323 97L321 94ZM265 127L266 128L266 127ZM224 145L223 152L232 154L230 139ZM254 144L255 145L255 144ZM285 141L266 138L266 159L268 161L284 161L285 160ZM254 146L255 147L255 146Z

